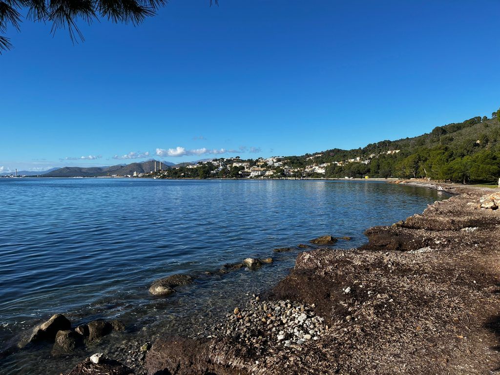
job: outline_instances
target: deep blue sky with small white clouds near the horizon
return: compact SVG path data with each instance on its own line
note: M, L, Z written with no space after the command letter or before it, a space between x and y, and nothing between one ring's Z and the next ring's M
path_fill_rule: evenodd
M357 148L500 106L500 2L171 0L143 24L25 20L0 168Z

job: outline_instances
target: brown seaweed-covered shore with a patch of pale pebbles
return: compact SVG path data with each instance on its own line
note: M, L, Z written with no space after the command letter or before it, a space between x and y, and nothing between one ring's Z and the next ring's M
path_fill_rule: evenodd
M142 345L140 355L117 352L113 359L94 354L68 375L498 373L500 191L439 189L453 196L367 229L361 247L301 244L305 251L284 279L228 306L205 338L162 337ZM334 242L316 240L311 244ZM245 259L241 266L262 263ZM151 287L169 293L188 281L167 278Z

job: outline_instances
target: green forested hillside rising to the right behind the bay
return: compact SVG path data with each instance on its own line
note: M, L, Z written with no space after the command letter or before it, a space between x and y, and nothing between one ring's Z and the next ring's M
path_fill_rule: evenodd
M399 152L388 154L390 150ZM477 116L460 123L437 126L430 133L413 138L382 140L352 150L330 149L321 154L313 161L315 164L331 163L326 167L325 177L368 175L452 181L494 180L500 175L500 109L493 112L491 118ZM361 161L369 159L369 162L332 163L356 157ZM307 164L303 157L289 159L296 166Z

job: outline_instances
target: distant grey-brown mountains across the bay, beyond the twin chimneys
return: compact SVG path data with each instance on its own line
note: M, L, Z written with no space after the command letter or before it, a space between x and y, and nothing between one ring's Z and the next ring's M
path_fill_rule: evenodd
M126 176L137 173L147 173L154 170L154 162L156 161L156 168L159 168L159 160L146 160L142 162L134 162L131 164L118 164L111 166L65 166L62 168L54 168L47 173L43 173L43 177L106 177L112 175ZM174 164L169 161L161 161L161 168L171 168L190 163ZM17 174L20 174L17 172ZM38 172L37 174L42 174Z

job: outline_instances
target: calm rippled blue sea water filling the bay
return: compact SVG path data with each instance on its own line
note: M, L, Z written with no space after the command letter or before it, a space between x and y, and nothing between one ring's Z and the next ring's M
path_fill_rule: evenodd
M275 284L298 252L272 252L323 234L364 242L445 198L376 181L0 179L0 348L55 312L74 324L117 317L127 332L64 358L50 347L0 359L1 374L58 374L86 353L165 333L202 334L248 294ZM204 275L223 263L272 256L259 270ZM201 275L169 298L151 281ZM232 307L231 307L232 306Z

